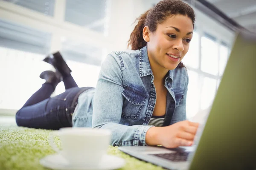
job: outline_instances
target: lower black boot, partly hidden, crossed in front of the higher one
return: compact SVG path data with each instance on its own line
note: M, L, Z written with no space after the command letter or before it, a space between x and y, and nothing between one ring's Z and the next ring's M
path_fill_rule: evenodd
M39 76L41 79L45 79L46 83L49 83L52 85L52 87L55 89L59 82L61 82L61 74L58 72L53 71L44 71Z

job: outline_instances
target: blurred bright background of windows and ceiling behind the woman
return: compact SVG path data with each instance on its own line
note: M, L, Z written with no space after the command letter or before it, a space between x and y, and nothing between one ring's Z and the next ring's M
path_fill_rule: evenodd
M137 17L160 0L0 0L0 114L15 115L44 83L42 62L61 51L77 84L96 86L102 61L127 49ZM184 0L196 12L183 63L189 72L187 116L209 108L235 32L256 32L256 0ZM64 91L60 83L54 95Z

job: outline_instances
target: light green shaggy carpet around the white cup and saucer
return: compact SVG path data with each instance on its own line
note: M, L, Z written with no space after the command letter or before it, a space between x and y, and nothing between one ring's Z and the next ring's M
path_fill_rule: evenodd
M51 130L0 125L0 170L47 170L39 160L55 153L48 144L50 132ZM59 139L55 140L60 145ZM125 159L126 164L120 170L163 170L122 153L117 147L110 146L108 154Z

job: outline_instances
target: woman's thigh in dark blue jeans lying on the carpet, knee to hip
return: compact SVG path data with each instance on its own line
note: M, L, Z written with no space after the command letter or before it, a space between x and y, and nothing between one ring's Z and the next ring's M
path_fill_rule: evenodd
M70 88L58 96L21 108L16 113L18 126L58 130L72 126L73 99L81 88Z

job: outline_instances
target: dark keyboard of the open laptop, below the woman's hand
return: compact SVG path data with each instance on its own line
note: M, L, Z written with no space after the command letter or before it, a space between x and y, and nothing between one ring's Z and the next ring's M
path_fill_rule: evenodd
M170 161L186 161L188 159L190 152L176 152L176 153L160 153L160 154L152 154L154 156L158 156L164 159L168 159Z

